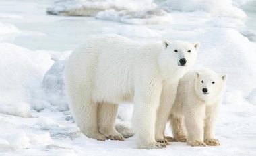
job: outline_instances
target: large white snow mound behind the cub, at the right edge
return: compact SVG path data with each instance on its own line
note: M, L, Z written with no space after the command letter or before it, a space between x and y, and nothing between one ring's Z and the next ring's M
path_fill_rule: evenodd
M256 88L256 44L235 29L212 28L198 38L197 64L228 74L228 87L247 96Z

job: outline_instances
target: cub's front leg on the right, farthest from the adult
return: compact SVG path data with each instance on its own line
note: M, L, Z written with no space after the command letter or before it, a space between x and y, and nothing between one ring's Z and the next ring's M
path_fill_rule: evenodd
M216 123L216 116L218 114L218 107L219 107L219 104L206 106L204 142L210 146L220 145L220 142L218 141L218 139L214 139L214 128Z

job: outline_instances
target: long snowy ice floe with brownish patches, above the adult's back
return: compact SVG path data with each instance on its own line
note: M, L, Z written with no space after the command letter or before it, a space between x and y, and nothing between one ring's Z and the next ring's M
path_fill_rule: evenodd
M52 15L96 16L96 19L129 24L171 23L172 17L152 0L56 1L47 9Z

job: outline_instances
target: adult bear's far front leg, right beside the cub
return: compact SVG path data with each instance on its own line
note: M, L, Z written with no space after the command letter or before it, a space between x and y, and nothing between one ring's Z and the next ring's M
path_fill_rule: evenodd
M178 82L163 86L160 97L160 105L158 107L156 119L156 141L159 143L165 143L166 145L169 145L169 143L168 140L164 138L164 129L175 100L177 86Z

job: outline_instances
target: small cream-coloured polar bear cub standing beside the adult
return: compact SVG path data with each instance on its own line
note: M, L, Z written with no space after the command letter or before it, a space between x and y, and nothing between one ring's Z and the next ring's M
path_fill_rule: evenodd
M225 88L226 75L209 68L191 70L179 80L170 113L174 141L187 139L191 146L220 145L214 139L214 125Z

